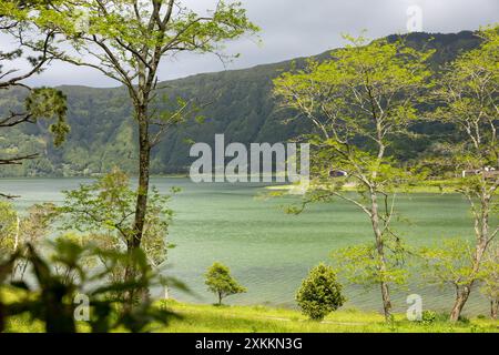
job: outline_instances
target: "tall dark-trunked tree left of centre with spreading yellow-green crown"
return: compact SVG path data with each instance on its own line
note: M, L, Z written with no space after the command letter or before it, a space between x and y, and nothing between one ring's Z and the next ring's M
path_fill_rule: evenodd
M126 88L133 104L139 139L139 186L129 251L140 247L147 214L151 150L173 124L189 116L191 100L180 100L172 112L154 108L159 69L165 58L181 52L216 53L221 43L257 31L240 3L217 1L198 14L180 0L63 1L43 6L50 21L37 13L34 26L61 33L81 55L52 51L59 59L93 68ZM31 43L24 42L31 47ZM126 271L134 277L133 265Z

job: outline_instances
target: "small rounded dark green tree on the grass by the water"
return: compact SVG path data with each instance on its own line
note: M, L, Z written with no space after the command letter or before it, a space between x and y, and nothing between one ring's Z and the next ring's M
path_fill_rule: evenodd
M302 312L313 321L322 321L345 303L343 286L336 281L336 274L330 266L319 264L314 267L296 294Z

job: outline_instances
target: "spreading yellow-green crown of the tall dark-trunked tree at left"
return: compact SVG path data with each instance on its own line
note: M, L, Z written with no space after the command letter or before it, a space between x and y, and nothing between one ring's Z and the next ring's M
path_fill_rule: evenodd
M242 4L232 1L218 1L214 9L202 14L179 0L108 1L105 7L101 1L51 1L50 7L35 2L29 11L8 6L4 11L6 19L13 23L21 21L27 31L49 32L47 52L50 55L92 68L122 83L128 90L121 93L128 94L125 102L133 109L119 116L119 121L135 119L134 123L141 128L136 131L142 132L141 141L146 141L147 151L157 145L172 126L197 112L193 97L172 99L169 94L165 102L157 103L156 98L164 97L157 82L161 62L184 51L216 53L230 59L231 55L223 53L224 42L259 30L249 21ZM16 36L17 28L6 31ZM21 47L31 49L39 41L37 37L28 38ZM74 50L68 50L68 44ZM157 110L159 104L161 110ZM101 129L100 124L96 126ZM55 125L52 130L63 131ZM144 144L139 148L145 153ZM146 163L149 168L149 154Z

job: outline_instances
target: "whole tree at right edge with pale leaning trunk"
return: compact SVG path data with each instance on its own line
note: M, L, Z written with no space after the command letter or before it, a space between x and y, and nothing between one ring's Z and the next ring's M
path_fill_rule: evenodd
M449 186L469 202L475 227L475 251L468 283L460 286L450 315L460 316L478 280L488 245L499 232L490 217L497 212L499 175L499 28L482 29L482 44L461 54L446 68L435 90L437 109L432 120L451 124L457 134L449 136L452 154L440 156L440 164L459 179Z

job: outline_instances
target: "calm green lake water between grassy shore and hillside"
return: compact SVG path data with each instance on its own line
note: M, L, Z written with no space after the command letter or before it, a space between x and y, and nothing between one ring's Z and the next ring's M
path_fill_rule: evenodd
M62 190L75 189L85 179L2 179L0 190L21 195L19 209L33 203L60 202ZM353 205L337 201L315 204L301 215L287 215L283 206L296 196L262 199L263 184L203 183L189 179L155 178L153 184L169 193L182 189L171 201L174 222L167 272L185 282L196 294L171 294L181 301L211 303L203 273L218 261L231 267L234 276L248 288L243 295L227 298L230 304L271 304L295 306L294 294L308 270L329 261L333 250L370 242L367 217ZM457 194L405 194L398 211L405 222L396 227L410 245L431 245L444 237L471 237L472 225L466 201ZM346 285L345 307L365 311L381 308L378 290L365 291ZM408 290L394 292L398 312L407 308L409 294L422 296L424 308L448 310L454 290L422 285L417 276ZM476 290L465 314L488 314L487 300Z

